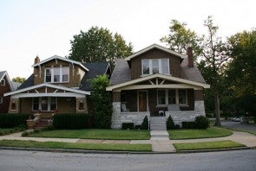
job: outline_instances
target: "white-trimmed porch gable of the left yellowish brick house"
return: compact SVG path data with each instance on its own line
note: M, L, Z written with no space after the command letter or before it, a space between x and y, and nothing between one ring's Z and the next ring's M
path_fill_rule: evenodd
M54 92L49 92L47 88L56 89ZM44 92L38 92L36 89L45 88ZM35 92L30 92L35 91ZM62 91L62 92L59 92ZM85 95L90 95L90 92L75 90L73 88L64 87L60 85L51 85L43 83L40 85L33 85L28 88L23 88L15 92L7 92L4 96L12 96L12 98L33 98L33 97L76 97L82 98Z

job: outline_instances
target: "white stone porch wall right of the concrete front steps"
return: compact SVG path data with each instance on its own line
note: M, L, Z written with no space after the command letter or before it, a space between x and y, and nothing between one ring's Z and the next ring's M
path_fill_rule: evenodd
M166 118L171 116L175 124L180 124L183 121L192 122L197 116L206 116L205 104L203 100L194 102L194 111L166 111Z

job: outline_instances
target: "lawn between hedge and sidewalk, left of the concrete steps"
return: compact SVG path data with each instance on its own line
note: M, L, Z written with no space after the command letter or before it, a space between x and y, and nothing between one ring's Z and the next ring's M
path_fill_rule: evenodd
M49 130L30 134L33 137L83 138L107 140L148 140L148 130Z

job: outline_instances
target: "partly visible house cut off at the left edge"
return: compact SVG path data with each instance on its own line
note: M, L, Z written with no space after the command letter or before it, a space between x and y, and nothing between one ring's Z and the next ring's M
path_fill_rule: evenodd
M19 85L21 84L10 81L6 71L0 72L0 113L8 113L10 104L10 97L4 97L3 94L15 91Z

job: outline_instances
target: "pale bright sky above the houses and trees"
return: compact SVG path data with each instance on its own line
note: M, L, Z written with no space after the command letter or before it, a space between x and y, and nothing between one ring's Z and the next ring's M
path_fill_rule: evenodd
M92 26L146 48L168 34L172 19L205 34L207 16L222 37L256 26L255 0L0 0L0 71L28 78L41 60L69 54L70 40Z

